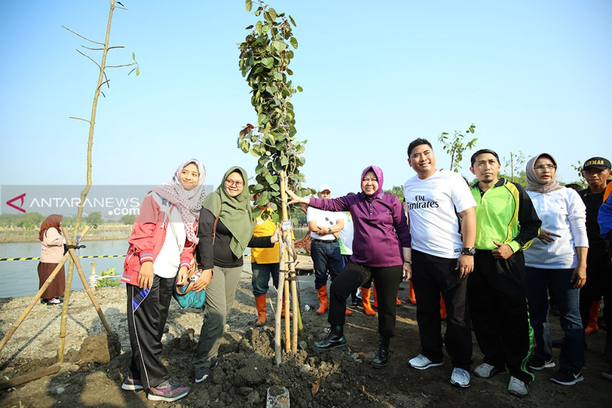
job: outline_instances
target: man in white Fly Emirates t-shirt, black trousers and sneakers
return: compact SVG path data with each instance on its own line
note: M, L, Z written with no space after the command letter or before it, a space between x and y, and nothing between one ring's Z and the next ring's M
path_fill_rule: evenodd
M412 237L412 286L417 299L421 352L409 364L427 369L441 366L440 292L446 303L444 335L452 358L450 382L469 387L472 335L467 317L467 276L474 269L476 201L460 174L436 169L426 139L408 147L408 163L416 171L404 185Z

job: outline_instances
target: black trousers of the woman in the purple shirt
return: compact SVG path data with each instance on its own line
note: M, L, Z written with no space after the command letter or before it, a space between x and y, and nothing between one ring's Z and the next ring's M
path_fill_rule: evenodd
M330 285L329 324L345 324L346 299L362 284L374 278L378 297L378 333L385 339L394 336L395 298L400 286L401 269L402 265L376 268L349 261Z

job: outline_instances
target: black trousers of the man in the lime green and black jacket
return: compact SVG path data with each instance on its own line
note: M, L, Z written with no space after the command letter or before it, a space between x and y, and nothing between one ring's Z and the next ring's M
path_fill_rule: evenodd
M529 324L525 259L522 251L505 260L477 250L468 278L468 305L485 363L504 368L528 384L533 330Z

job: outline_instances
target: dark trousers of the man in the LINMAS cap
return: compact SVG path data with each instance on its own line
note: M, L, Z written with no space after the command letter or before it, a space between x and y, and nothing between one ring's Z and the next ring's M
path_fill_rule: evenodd
M586 284L580 289L580 318L582 319L582 327L586 328L589 325L589 314L591 305L597 300L601 300L605 295L606 287L610 286L612 280L612 263L610 262L610 253L605 248L589 248L586 256ZM609 297L603 299L604 303L612 305L612 299ZM610 314L610 311L605 311L604 316ZM606 322L607 324L607 322Z

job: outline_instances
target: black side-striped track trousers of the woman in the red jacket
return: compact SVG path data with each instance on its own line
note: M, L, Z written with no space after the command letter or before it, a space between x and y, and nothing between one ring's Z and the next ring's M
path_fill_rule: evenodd
M163 328L168 320L174 278L153 276L149 289L127 286L127 327L132 345L130 375L145 389L157 387L170 378L162 357Z

